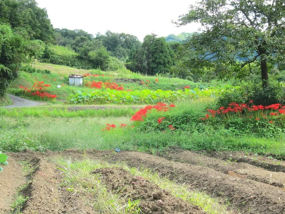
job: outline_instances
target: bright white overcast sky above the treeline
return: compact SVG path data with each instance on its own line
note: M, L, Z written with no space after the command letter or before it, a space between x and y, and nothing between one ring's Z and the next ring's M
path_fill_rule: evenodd
M173 21L188 12L197 0L36 0L47 9L54 28L83 29L90 34L107 30L133 34L143 40L155 33L159 37L195 32L199 24L177 28Z

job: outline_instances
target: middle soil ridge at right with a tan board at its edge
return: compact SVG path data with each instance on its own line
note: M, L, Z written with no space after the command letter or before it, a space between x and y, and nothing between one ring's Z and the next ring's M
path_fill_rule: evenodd
M208 157L194 152L184 151L179 148L171 148L167 151L160 152L159 156L181 163L190 163L192 165L206 166L216 171L228 174L228 171L246 176L251 180L267 183L270 185L284 188L285 173L267 171L264 168L252 166L248 163L235 162L232 158L222 161L218 158Z

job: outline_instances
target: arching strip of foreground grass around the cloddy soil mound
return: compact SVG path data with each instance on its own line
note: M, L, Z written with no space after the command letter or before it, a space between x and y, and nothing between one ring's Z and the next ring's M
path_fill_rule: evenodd
M131 210L124 210L121 207L130 207L126 204L130 203L128 198L120 198L116 193L107 191L107 186L100 182L98 174L91 174L91 171L100 168L123 168L129 171L134 176L141 176L148 179L150 182L158 185L160 188L165 188L170 193L183 200L188 201L190 204L197 205L204 209L209 214L227 214L227 207L219 204L219 198L213 199L205 193L190 191L187 185L177 184L168 180L165 177L160 177L158 174L153 174L148 170L138 170L129 168L125 163L109 164L100 161L91 161L84 159L83 161L72 161L71 159L57 160L61 164L61 170L65 174L64 188L73 192L84 192L91 194L94 198L92 205L96 210L102 210L103 213L131 213ZM115 169L114 169L115 170ZM139 201L135 201L140 204ZM110 206L109 206L110 205ZM116 209L114 209L116 208ZM137 209L133 213L137 213Z

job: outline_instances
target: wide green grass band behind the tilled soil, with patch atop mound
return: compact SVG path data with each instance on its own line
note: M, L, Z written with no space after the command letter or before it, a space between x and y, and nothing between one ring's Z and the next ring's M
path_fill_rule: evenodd
M192 109L197 114L205 114L211 102L212 99L203 98L176 103L176 107L166 113L179 115ZM0 150L106 150L119 147L121 150L155 152L165 147L179 146L184 150L246 150L285 157L285 135L267 138L246 134L235 136L222 127L213 129L211 126L204 127L202 132L199 127L189 131L139 131L131 127L137 127L138 124L130 121L133 113L130 108L77 112L59 110L60 108L62 107L0 108ZM157 117L162 117L165 113L156 114ZM117 127L102 131L107 123ZM128 127L119 128L121 123L128 124Z

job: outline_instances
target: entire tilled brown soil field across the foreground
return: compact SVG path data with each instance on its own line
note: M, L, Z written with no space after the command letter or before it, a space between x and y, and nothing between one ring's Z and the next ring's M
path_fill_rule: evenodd
M93 197L83 192L70 193L62 188L63 177L54 163L58 157L72 160L102 160L108 163L126 162L129 167L149 169L181 184L191 185L212 197L221 197L229 204L229 213L285 214L285 161L259 157L246 152L193 153L171 149L150 155L121 151L63 151L37 153L23 151L7 153L9 165L0 173L0 213L15 213L12 203L19 187L29 180L22 193L26 200L23 214L30 213L101 213L86 201ZM22 162L30 163L32 174L27 176ZM229 175L229 171L239 177ZM123 197L140 199L142 213L206 213L201 208L172 196L165 189L129 174L120 168L91 171L101 175L101 181L110 191L117 189ZM84 178L83 178L84 179Z

